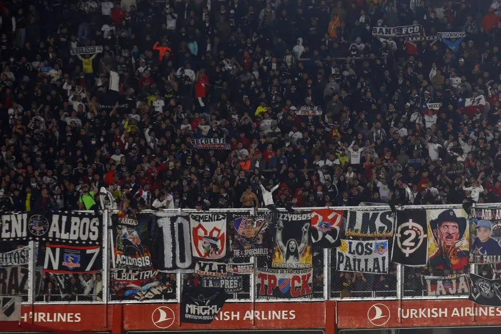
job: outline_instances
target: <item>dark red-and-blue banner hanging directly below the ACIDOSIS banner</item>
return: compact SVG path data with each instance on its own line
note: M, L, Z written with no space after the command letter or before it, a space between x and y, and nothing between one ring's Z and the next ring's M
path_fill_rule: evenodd
M110 272L110 292L120 300L169 299L175 297L175 284L169 277L155 269L115 269Z

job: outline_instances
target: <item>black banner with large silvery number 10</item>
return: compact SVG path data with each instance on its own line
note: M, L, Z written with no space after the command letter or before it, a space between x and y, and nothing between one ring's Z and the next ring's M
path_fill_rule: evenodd
M188 215L157 218L153 266L165 272L193 272Z

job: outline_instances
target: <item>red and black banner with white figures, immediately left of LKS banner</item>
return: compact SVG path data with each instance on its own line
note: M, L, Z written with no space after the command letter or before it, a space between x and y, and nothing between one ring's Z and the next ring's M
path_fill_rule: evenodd
M343 211L332 209L312 210L312 241L324 248L335 248L341 244L340 231L343 225Z

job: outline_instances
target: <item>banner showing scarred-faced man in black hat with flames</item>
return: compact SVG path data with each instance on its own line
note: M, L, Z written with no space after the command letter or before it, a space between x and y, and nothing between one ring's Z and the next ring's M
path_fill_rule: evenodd
M426 210L428 263L435 269L458 270L468 264L469 228L463 209Z

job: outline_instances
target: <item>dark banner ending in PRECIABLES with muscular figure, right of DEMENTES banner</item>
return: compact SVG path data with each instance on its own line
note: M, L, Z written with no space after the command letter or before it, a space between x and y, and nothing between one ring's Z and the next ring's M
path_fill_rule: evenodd
M270 222L266 215L233 216L233 256L268 255Z

